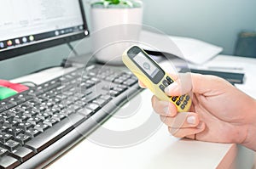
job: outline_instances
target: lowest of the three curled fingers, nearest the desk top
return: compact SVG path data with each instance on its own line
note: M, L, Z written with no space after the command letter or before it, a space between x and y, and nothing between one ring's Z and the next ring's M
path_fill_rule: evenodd
M180 128L180 129L174 129L172 127L168 127L168 131L172 134L172 136L176 138L185 138L185 137L191 137L191 135L198 134L200 132L203 132L206 128L205 123L201 122L198 127L189 127L189 128Z

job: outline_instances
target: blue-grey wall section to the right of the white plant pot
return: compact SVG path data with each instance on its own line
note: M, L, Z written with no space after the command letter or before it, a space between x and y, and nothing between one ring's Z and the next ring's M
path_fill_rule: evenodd
M255 0L144 0L144 23L166 34L195 37L234 54L238 32L256 31Z

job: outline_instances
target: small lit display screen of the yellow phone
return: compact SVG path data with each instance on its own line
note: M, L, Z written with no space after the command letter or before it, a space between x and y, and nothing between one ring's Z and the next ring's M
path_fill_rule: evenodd
M137 54L133 59L151 78L154 78L160 71L142 52Z

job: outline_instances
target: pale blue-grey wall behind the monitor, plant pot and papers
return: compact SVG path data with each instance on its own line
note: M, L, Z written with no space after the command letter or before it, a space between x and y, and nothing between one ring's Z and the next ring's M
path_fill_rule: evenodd
M143 3L145 25L152 25L166 34L195 37L222 46L224 54L233 54L239 31L256 31L255 0L144 0ZM85 0L84 6L89 20L89 4ZM81 52L90 51L89 46L85 40L86 48ZM69 53L67 45L61 45L2 61L0 78L12 79L44 67L60 65L61 59Z

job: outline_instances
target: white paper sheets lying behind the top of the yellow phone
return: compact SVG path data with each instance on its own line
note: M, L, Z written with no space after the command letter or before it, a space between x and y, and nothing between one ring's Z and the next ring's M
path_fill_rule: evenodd
M223 48L188 37L172 37L151 31L142 31L141 47L147 50L174 54L190 63L201 65L223 51Z

